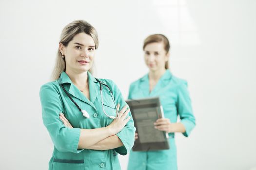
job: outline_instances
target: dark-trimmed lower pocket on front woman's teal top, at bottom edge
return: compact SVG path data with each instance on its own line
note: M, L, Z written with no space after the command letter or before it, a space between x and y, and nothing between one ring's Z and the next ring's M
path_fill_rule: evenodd
M53 159L53 170L84 170L84 160Z

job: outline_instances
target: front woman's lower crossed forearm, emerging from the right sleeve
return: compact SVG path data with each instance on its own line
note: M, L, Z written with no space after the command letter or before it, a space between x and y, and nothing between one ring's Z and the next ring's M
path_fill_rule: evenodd
M109 150L123 146L122 141L117 135L109 136L98 143L90 146L88 149L94 150Z

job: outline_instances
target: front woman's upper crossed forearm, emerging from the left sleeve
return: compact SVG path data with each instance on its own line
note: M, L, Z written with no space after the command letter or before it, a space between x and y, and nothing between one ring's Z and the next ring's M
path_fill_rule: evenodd
M92 145L112 136L113 133L108 127L96 129L81 129L78 149L89 149Z

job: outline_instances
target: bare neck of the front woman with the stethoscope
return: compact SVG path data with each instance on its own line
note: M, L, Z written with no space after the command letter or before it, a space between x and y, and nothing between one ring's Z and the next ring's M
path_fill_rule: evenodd
M87 71L78 73L72 70L66 70L66 74L69 76L72 83L76 85L79 89L82 89L87 85L87 82L88 82Z

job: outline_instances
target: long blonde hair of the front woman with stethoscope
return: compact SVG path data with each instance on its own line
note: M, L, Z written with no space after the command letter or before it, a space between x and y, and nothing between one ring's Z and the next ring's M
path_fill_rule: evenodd
M68 25L66 25L63 28L62 33L60 35L59 44L62 43L65 47L68 46L68 43L73 39L73 37L79 33L85 33L90 35L94 40L95 49L98 48L98 34L95 28L84 20L75 20L69 23ZM65 58L62 58L62 53L59 51L59 48L58 48L55 66L52 72L52 80L59 79L60 74L62 73L62 71L65 71L65 70L66 70ZM92 68L90 68L89 72L92 73Z

